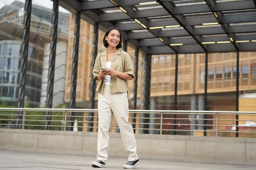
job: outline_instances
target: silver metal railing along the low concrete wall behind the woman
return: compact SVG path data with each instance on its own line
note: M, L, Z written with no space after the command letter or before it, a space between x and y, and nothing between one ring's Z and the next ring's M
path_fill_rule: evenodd
M22 115L17 115L22 111ZM52 115L45 115L49 111ZM66 108L0 108L0 128L21 128L43 130L67 130L70 122L78 131L94 131L98 128L97 109L66 109ZM70 113L74 112L72 116ZM93 113L93 114L89 114ZM233 111L192 111L192 110L129 110L129 122L135 124L135 133L173 134L203 136L256 137L256 112ZM239 119L236 119L238 115ZM18 119L18 116L21 119ZM45 120L50 116L50 120ZM74 117L74 121L69 121ZM16 124L22 120L22 124ZM89 121L92 120L92 121ZM49 125L45 125L49 121ZM176 123L174 123L176 122ZM89 126L90 125L90 126ZM236 130L238 128L238 130ZM90 129L90 130L89 130ZM206 130L205 130L206 129ZM110 132L119 132L112 117Z

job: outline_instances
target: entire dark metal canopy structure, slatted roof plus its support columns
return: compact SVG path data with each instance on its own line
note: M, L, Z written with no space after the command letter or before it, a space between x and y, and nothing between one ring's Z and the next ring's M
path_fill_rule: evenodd
M115 26L121 31L124 42L124 51L127 50L127 40L142 49L147 53L146 59L146 79L144 89L144 109L149 109L149 97L150 97L150 64L148 61L149 56L154 54L176 54L175 59L175 96L174 96L174 108L177 109L177 55L179 53L206 53L205 59L205 89L204 89L204 110L207 110L207 63L208 53L216 52L237 52L237 76L236 76L236 110L238 111L238 97L239 97L239 51L256 51L255 42L256 35L246 35L247 33L256 33L255 26L252 25L239 25L238 23L256 22L256 1L247 0L243 2L223 2L217 3L214 0L205 0L205 4L198 4L193 6L178 6L172 0L157 0L157 4L161 8L157 9L145 9L139 10L139 2L148 2L148 0L101 0L101 3L97 1L83 1L83 0L53 0L54 1L54 15L53 15L53 29L52 29L52 43L50 53L50 66L49 66L49 80L47 87L47 108L52 108L52 95L53 95L53 82L54 82L54 65L55 65L55 53L56 53L56 36L58 26L58 4L63 7L72 7L72 9L78 11L76 14L76 29L74 39L74 53L73 53L73 66L72 66L72 88L70 96L70 108L75 108L76 98L76 76L77 76L77 59L79 49L79 29L81 14L88 18L88 22L98 23L103 27ZM182 3L182 2L177 2ZM121 7L126 10L126 13L105 13L105 9L118 9ZM136 9L136 10L134 10ZM164 9L164 10L163 10ZM243 11L244 10L244 11ZM246 10L251 10L251 13L247 13ZM227 11L233 11L232 15L224 15ZM239 11L236 13L235 11ZM203 13L207 13L205 16ZM215 15L216 14L216 15ZM78 16L77 16L78 15ZM198 15L198 18L187 18L186 15ZM25 2L25 15L24 15L24 30L23 30L23 44L22 44L22 58L20 63L20 88L18 93L17 107L24 106L24 92L25 92L25 79L27 68L27 52L28 52L28 40L29 40L29 28L30 28L30 16L31 16L31 0ZM174 20L150 20L150 17L173 18ZM89 19L90 18L90 19ZM121 23L120 21L131 21L138 19L141 24L137 22ZM218 22L220 27L196 27L204 22ZM235 23L237 25L231 25ZM142 26L146 26L144 28ZM153 26L166 26L180 24L183 29L163 30L155 29L151 30L149 27ZM98 25L98 26L99 26ZM145 32L134 32L133 30L145 30ZM239 34L238 34L239 33ZM209 36L204 36L209 35ZM219 36L214 36L219 35ZM175 38L175 39L173 39ZM150 39L150 40L146 40ZM162 40L161 40L162 39ZM161 40L161 41L160 41ZM230 44L202 44L202 42L217 42L230 40ZM250 40L247 44L238 44L236 40ZM184 43L183 46L170 46L172 43ZM95 53L95 51L94 51ZM95 54L94 54L95 55ZM93 83L92 83L93 84ZM93 85L92 85L93 86ZM92 87L93 88L93 87ZM95 87L94 87L95 88ZM136 91L137 93L137 91ZM94 95L90 96L91 106L93 107ZM135 102L136 103L136 102ZM135 104L136 106L136 104ZM18 113L20 115L20 113ZM46 115L51 115L47 112ZM74 113L71 113L74 115ZM70 117L70 126L74 123L74 117ZM236 117L238 119L238 116ZM21 116L17 117L17 126L20 124ZM47 117L50 120L50 117ZM47 124L49 125L49 121ZM238 121L236 122L238 126ZM72 128L69 128L72 130ZM237 128L238 130L238 128ZM205 134L204 134L205 135ZM238 135L236 133L236 135Z

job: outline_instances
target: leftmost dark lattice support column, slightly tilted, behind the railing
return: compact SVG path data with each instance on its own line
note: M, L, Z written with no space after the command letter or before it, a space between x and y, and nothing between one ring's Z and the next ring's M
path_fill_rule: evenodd
M25 1L24 7L24 29L22 33L22 51L20 59L20 80L19 80L19 93L17 108L24 107L25 98L25 86L26 86L26 73L27 73L27 55L29 49L29 31L30 31L30 19L31 19L31 5L32 0ZM22 111L17 111L16 129L21 129L22 124ZM19 126L20 125L20 126Z

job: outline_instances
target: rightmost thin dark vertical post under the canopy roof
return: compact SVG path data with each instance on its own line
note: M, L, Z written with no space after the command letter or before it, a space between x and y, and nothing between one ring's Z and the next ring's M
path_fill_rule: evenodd
M239 111L239 51L236 52L236 111ZM236 137L238 137L238 119L236 115Z

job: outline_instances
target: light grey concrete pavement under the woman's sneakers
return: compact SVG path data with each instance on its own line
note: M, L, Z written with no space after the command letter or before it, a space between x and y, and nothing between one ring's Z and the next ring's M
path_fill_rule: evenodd
M157 156L157 155L156 155ZM91 166L96 157L9 152L0 150L0 170L98 170ZM103 170L124 170L127 159L109 158ZM137 170L256 170L256 166L154 161L140 159Z

